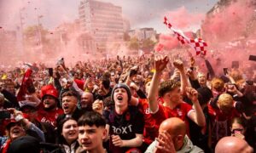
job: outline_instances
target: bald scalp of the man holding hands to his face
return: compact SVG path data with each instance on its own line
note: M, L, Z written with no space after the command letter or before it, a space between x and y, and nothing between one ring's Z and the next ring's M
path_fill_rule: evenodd
M184 136L186 134L186 124L177 117L168 118L160 124L159 132L164 131L167 131L173 136L180 134Z

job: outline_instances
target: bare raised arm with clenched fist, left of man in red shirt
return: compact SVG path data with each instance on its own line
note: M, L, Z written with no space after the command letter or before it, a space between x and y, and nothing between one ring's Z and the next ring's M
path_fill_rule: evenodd
M161 77L162 71L166 68L168 61L169 59L167 58L167 56L165 58L156 57L154 59L155 71L154 71L154 76L148 91L149 109L152 112L155 112L158 110L157 95L158 95L160 77Z

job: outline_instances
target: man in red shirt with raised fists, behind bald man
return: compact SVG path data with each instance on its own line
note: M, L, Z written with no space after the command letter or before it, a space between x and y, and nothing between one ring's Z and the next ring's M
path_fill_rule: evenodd
M173 63L177 70L180 71L181 85L177 81L169 80L161 82L159 88L161 73L166 68L168 61L169 59L167 59L167 57L155 59L154 77L150 84L148 93L149 109L153 114L158 111L163 114L162 118L158 118L159 122L172 116L181 118L186 122L187 134L189 135L189 119L200 127L204 127L206 125L206 119L198 101L197 91L194 88L187 88L188 82L182 61L176 60ZM159 95L157 95L158 92ZM182 95L185 94L187 94L188 98L192 101L193 109L191 105L183 102ZM158 101L157 96L160 96L162 101Z

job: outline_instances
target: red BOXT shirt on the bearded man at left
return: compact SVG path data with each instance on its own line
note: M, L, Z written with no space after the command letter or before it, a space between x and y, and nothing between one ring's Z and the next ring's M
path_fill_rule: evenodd
M44 106L39 105L38 109L38 121L39 122L48 122L52 126L56 127L56 119L61 114L64 114L64 111L58 107L54 111L44 111Z

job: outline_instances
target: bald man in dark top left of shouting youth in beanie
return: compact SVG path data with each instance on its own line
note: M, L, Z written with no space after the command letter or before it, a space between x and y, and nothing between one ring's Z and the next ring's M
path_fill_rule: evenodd
M81 96L81 108L85 111L92 111L92 103L93 103L93 94L89 92L84 92Z

